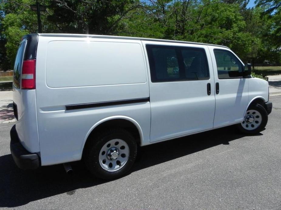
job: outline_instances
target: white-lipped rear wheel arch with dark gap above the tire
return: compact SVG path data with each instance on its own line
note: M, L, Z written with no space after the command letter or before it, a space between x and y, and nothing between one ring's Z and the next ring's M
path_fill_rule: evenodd
M118 123L118 125L116 125L116 123ZM90 139L89 137L91 137L91 135L94 135L99 130L101 130L105 127L109 127L109 126L127 128L127 130L129 129L129 131L132 131L132 133L134 134L134 137L136 137L136 141L138 144L143 142L142 129L136 120L134 120L133 118L128 117L128 116L106 117L102 120L99 120L97 123L95 123L90 128L90 130L87 132L87 134L84 138L83 144L82 144L82 148L81 148L81 158L82 158L82 154L84 152L84 148L85 148L85 146L87 146L87 142L89 142L89 139Z

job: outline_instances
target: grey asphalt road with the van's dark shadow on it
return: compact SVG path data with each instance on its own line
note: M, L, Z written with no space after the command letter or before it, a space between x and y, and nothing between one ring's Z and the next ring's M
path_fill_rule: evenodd
M266 129L233 126L142 147L131 173L92 178L80 162L22 171L9 151L11 123L0 125L0 208L281 209L281 96L271 97Z

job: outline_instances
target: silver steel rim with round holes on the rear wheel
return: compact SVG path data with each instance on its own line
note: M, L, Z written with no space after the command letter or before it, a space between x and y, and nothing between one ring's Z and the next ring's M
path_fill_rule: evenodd
M111 139L101 147L98 159L102 169L113 172L125 166L129 154L129 146L124 140Z

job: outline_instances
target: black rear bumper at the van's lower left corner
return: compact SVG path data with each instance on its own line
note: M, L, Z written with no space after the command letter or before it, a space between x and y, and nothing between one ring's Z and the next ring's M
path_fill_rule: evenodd
M40 166L40 157L37 153L30 153L21 144L15 125L10 131L10 149L15 164L20 169L36 169Z

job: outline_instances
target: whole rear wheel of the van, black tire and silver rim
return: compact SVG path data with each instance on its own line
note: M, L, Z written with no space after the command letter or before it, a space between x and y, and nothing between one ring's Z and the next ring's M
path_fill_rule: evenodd
M137 154L134 137L125 129L105 130L93 136L85 148L84 161L101 179L116 179L131 169Z

